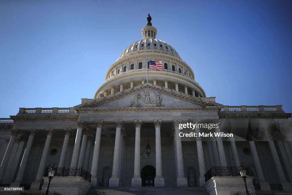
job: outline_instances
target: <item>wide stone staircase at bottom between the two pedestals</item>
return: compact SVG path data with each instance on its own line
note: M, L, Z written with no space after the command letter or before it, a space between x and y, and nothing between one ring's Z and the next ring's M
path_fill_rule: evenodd
M92 187L87 195L194 194L209 195L204 187Z

